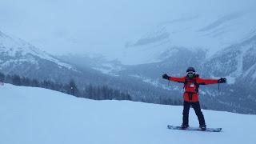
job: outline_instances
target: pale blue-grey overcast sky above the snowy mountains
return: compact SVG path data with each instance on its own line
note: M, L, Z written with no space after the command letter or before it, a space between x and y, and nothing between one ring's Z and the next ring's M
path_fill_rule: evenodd
M118 54L162 22L254 6L254 0L0 0L0 30L51 54Z

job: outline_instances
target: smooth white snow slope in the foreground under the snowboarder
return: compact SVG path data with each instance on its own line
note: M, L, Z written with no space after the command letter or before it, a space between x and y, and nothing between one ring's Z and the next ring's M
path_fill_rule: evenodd
M182 106L94 101L53 90L0 86L1 144L221 144L256 142L256 116L203 110L220 133L168 130ZM190 126L198 126L190 110Z

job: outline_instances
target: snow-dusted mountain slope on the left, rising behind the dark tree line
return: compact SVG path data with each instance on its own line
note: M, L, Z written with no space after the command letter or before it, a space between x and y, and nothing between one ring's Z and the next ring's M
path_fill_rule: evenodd
M51 54L39 50L20 38L0 33L0 70L5 74L19 74L38 80L69 82L74 79L78 86L96 84L107 79L93 69L78 69ZM109 82L110 79L105 80ZM103 83L105 83L103 82Z

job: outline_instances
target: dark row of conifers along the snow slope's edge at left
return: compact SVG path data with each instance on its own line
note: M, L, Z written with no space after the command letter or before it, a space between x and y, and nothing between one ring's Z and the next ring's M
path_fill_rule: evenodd
M21 77L17 74L2 74L0 72L0 82L10 83L15 86L32 86L41 87L50 90L56 90L65 94L71 94L79 98L90 98L95 100L131 100L128 92L114 90L109 86L93 86L91 84L83 86L79 89L73 79L70 82L62 84L61 82L53 82L50 80L38 81L37 79Z

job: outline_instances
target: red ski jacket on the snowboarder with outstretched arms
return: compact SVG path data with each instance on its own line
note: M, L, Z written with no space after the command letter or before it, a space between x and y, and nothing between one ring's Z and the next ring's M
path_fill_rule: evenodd
M210 85L210 84L217 84L217 79L202 79L199 78L197 75L196 78L177 78L177 77L170 77L169 79L172 82L180 82L184 83L184 94L183 98L186 102L198 102L198 87L199 85Z

